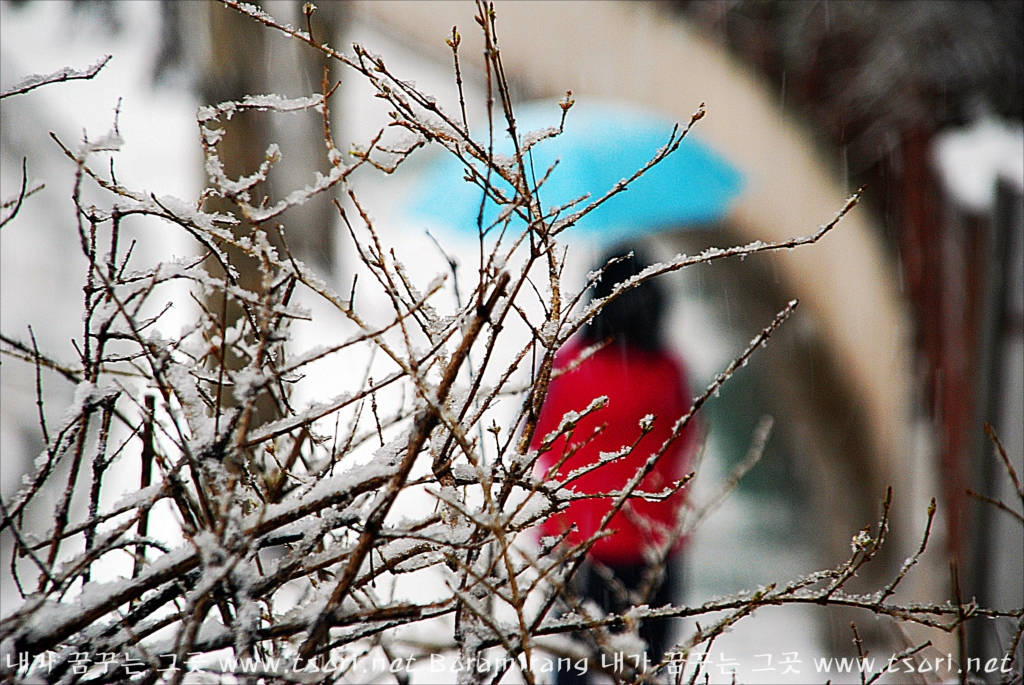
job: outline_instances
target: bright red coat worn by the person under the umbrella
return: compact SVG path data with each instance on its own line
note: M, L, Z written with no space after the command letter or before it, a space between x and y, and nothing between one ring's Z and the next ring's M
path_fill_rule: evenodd
M570 340L555 357L555 369L564 369L587 346L586 341ZM548 396L541 411L540 422L534 433L532 447L539 448L545 436L558 429L566 412L581 412L601 395L608 397L604 409L580 420L572 444L586 442L601 424L607 424L588 444L570 457L559 475L596 462L601 453L617 452L633 444L640 436L640 420L648 414L656 417L653 430L636 449L594 471L578 478L569 488L578 493L605 493L622 489L637 469L651 454L660 448L672 433L676 421L689 411L692 403L686 386L682 362L666 351L647 351L609 344L580 365L577 369L554 379L548 386ZM638 489L657 493L683 476L690 467L695 440L695 421L691 421L683 434L666 451ZM550 452L538 460L537 473L543 476L564 454L565 437L559 437ZM671 529L685 501L685 490L662 502L633 499L627 504L632 511L655 524ZM555 514L541 526L541 534L555 536L571 523L578 530L569 534L568 542L575 544L590 538L602 517L611 508L608 498L578 500L568 509ZM631 516L620 511L612 517L609 528L617 532L600 540L591 549L591 556L612 565L643 563L643 551L652 543L665 540L653 528L636 525Z

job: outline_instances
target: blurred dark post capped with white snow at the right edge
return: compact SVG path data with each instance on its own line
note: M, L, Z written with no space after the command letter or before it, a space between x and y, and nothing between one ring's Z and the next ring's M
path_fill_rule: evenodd
M1019 125L982 119L930 143L942 180L934 265L939 322L934 425L949 509L949 555L959 562L965 600L1013 610L1024 602L1024 530L1012 514L1021 498L984 424L992 425L1018 473L1024 470L1024 153ZM929 320L929 319L924 319ZM974 490L980 497L969 496ZM989 502L980 500L987 499ZM969 655L1004 655L1016 622L975 620ZM1022 646L1024 650L1024 646ZM1022 654L1024 656L1024 654ZM994 681L992 681L994 682Z

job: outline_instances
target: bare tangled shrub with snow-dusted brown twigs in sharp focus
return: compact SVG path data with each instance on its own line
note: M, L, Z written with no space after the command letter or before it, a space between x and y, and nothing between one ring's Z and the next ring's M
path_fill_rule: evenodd
M101 665L86 666L83 673L76 654L119 653L138 663L146 682L181 683L188 665L226 675L248 663L250 676L263 674L269 681L284 677L279 657L324 666L357 654L350 666L360 668L374 658L393 663L436 650L465 661L496 648L506 660L488 680L516 669L536 683L534 655L565 649L570 634L587 636L570 651L585 650L600 662L616 649L639 648L638 623L656 616L701 622L679 646L687 655L706 652L736 622L767 606L852 607L943 632L976 618L1021 625L1020 609L996 610L962 598L930 605L897 600L926 551L934 509L918 553L883 587L849 588L886 544L891 494L878 524L854 537L851 556L834 568L699 605L651 608L639 597L622 612L591 611L570 591L572 577L589 551L613 534L611 517L636 517L640 508L686 491L692 474L658 483L648 476L708 399L794 315L797 303L764 322L681 416L634 422L636 441L562 473L579 445L593 438L579 435L581 426L605 421L609 402L588 398L589 404L581 403L585 409L538 433L552 380L570 378L604 349L603 343L591 345L556 366L559 347L602 307L658 275L723 258L814 249L840 229L862 190L809 234L678 255L584 305L584 291L568 293L562 281L561 231L673 155L702 108L605 196L544 212L538 198L543 179L523 180L529 148L570 127L571 118L563 116L557 129L525 135L511 156L494 155L470 136L464 106L461 119L447 115L380 55L358 46L344 55L252 5L223 4L353 70L409 137L383 145L378 134L352 154L353 162L343 163L330 135L326 84L324 92L307 97L250 95L203 108L197 119L209 185L189 199L130 188L117 180L113 165L110 172L103 164L94 166L96 153L103 153L104 163L108 154L117 155L122 141L116 127L114 135L77 149L54 137L76 171L71 195L77 214L67 231L84 257L83 328L74 362L40 349L34 337L2 336L0 351L35 372L32 411L43 444L32 474L0 509L0 531L12 541L3 561L22 593L0 619L4 654L46 651L52 655L47 678L71 682L118 680L120 674L100 673ZM311 3L304 6L307 22L313 11ZM488 92L500 103L503 126L515 131L496 22L489 3L478 3ZM454 31L449 45L464 105L459 43ZM31 77L19 92L92 78L106 59L86 72ZM571 104L566 97L563 115ZM240 112L272 117L307 110L325 119L330 170L310 172L304 187L279 194L272 204L257 202L269 195L265 184L281 151L261 147L257 168L231 178L225 169L236 165L220 157L228 148L221 145L229 135L224 124ZM420 280L422 270L409 266L426 257L390 244L349 184L354 169L388 174L427 143L464 163L469 182L502 205L492 227L478 226L479 263L468 288L454 293L452 306L438 294L452 294L457 262L445 253L453 277ZM5 212L13 212L4 219L10 226L5 231L17 229L9 219L31 195L26 168L22 191L4 204ZM356 262L340 292L291 254L278 225L287 208L335 186L345 190L345 205L336 202L336 208ZM217 211L205 205L211 199L219 203ZM156 264L141 260L122 231L129 216L183 231L193 250L185 258L164 255ZM524 228L511 229L516 217ZM485 245L490 228L501 239ZM138 252L166 250L160 230L138 236ZM598 277L600 271L592 273L588 285ZM171 327L165 322L171 310L189 313ZM342 323L326 324L325 311ZM314 332L315 345L299 348L293 336L298 326ZM75 387L75 400L59 421L47 416L44 369ZM654 440L655 427L667 432L625 484L575 489L647 444L641 440ZM669 548L690 531L686 524L699 522L757 463L769 428L766 422L758 429L748 459L719 494L666 531L652 568L664 570ZM556 449L562 452L554 468L538 466ZM1010 468L1001 444L998 449ZM1016 472L1009 473L1017 483ZM610 507L596 532L575 540L566 530L540 546L531 541L532 526L589 499ZM999 504L1016 512L1015 503ZM409 588L412 596L402 595ZM232 660L218 661L224 654ZM177 671L168 669L172 661ZM11 663L17 662L0 661L4 679L28 676ZM646 675L628 669L608 675L639 682L660 678L670 668L663 659ZM702 668L691 682L707 675ZM408 668L394 675L407 678Z

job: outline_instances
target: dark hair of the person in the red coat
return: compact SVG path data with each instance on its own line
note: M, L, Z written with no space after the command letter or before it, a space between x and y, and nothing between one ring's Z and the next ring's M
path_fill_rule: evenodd
M625 256L631 252L632 255ZM607 266L594 285L593 299L607 297L616 285L650 265L645 255L633 246L610 250L601 259L600 265L604 266L615 258L620 260ZM655 350L662 347L665 293L660 284L647 281L604 305L584 328L583 334L593 341L611 338L620 345Z

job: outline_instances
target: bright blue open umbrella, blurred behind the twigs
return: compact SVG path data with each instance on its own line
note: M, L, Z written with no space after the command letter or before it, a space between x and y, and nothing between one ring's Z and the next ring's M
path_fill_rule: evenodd
M557 126L560 117L555 100L530 102L516 109L516 126L523 136ZM602 197L646 164L668 142L672 127L670 121L622 104L577 102L568 113L564 132L538 143L530 153L527 173L532 170L536 178L558 161L541 187L543 207L561 206L587 192L590 200ZM485 135L483 126L476 131ZM514 152L511 138L500 126L496 126L495 152L506 156ZM412 195L412 214L475 236L482 190L464 180L465 175L464 165L454 156L434 161ZM511 186L500 179L496 182L506 197L511 196ZM568 230L614 242L669 227L714 222L726 214L741 189L739 171L690 133L675 153ZM499 208L488 201L484 227L498 214Z

